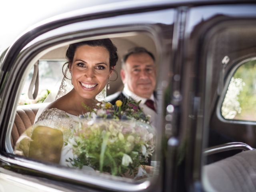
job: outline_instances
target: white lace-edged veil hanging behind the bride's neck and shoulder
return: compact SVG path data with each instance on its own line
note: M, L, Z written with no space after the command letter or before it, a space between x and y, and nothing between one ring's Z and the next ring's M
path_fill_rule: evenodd
M63 75L63 78L62 78L62 81L61 81L60 85L56 85L56 88L51 90L50 94L44 100L45 105L43 105L41 108L39 108L39 110L38 110L38 112L36 114L35 122L37 121L37 119L40 116L40 114L43 112L43 110L46 108L46 106L50 102L53 102L53 101L57 100L58 98L64 96L65 94L67 94L68 92L70 92L72 90L73 85L72 85L71 80L70 80L71 79L71 74L70 74L70 72L68 70L68 65L66 65L64 74L65 75ZM106 100L106 86L96 96L96 99L98 101Z

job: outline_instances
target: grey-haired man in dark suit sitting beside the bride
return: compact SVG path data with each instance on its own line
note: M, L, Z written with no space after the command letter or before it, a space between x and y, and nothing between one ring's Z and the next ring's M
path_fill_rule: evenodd
M131 99L140 102L139 107L145 115L150 116L155 125L156 116L156 66L154 55L142 47L129 50L122 58L120 71L124 89L107 97L107 101L115 104L116 100Z

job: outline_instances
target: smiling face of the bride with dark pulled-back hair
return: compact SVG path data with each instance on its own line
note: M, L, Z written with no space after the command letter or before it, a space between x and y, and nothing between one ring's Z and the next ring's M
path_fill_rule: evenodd
M94 99L112 74L108 50L102 46L78 47L70 71L76 92L82 98Z

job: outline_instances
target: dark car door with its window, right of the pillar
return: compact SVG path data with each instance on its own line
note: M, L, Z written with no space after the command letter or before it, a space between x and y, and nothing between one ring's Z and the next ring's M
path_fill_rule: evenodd
M242 89L247 89L249 81L254 87L253 75L249 75L253 74L255 57L254 10L255 4L242 3L213 3L186 10L184 41L180 44L184 53L180 59L180 145L176 148L180 154L176 160L184 156L183 164L176 166L176 177L184 172L185 178L181 180L185 181L185 190L255 190L255 165L250 163L254 159L255 122L245 118L253 112L236 118L236 114L247 110L248 104L243 102L251 101L249 105L254 105L250 98L239 98L246 95ZM244 68L248 70L242 78L238 76L239 68L242 70L246 63L249 64ZM251 80L247 81L248 78ZM234 146L223 145L230 142ZM210 155L208 150L214 148L217 150ZM249 149L249 153L241 149ZM180 186L177 184L177 190Z

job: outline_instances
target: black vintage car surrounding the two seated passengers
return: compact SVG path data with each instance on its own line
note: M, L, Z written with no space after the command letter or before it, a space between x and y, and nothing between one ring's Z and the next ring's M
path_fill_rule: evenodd
M256 191L255 1L0 5L1 191ZM134 46L156 58L158 116L149 178L14 154L16 141L47 104L42 94L60 84L68 45L100 38L110 38L120 58ZM120 75L110 87L108 95L122 90Z

